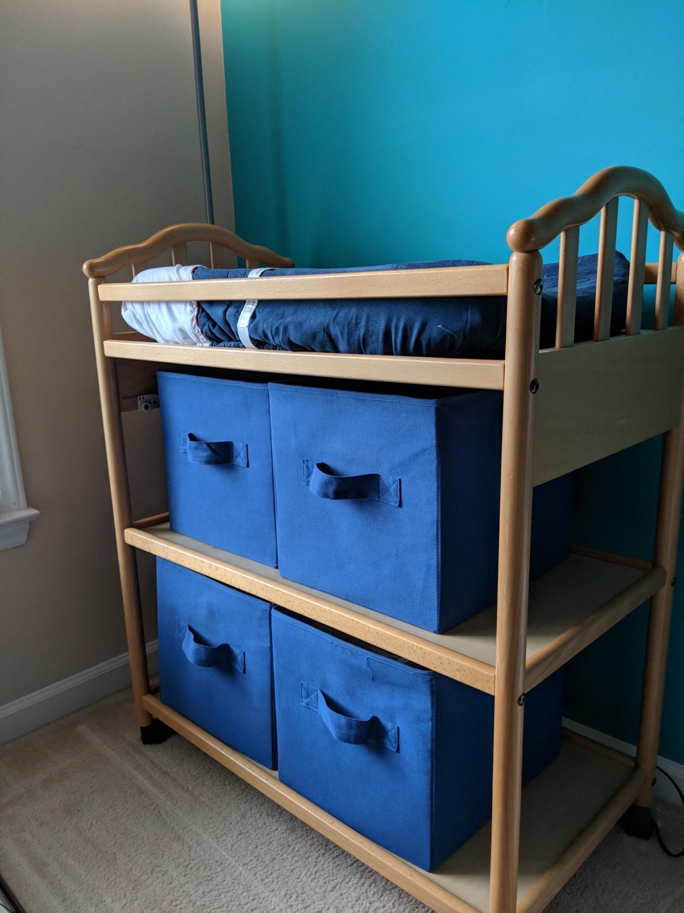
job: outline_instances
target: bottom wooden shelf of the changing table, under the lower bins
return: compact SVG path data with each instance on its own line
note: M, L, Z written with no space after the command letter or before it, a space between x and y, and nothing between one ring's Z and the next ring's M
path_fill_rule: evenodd
M342 824L281 783L277 772L214 739L155 695L143 704L229 771L438 913L487 913L489 825L436 872L424 872ZM544 909L634 802L645 779L626 755L565 732L558 759L523 790L518 913Z

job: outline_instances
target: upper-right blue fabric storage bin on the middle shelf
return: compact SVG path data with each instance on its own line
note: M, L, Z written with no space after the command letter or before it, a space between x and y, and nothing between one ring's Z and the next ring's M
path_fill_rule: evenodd
M443 632L496 599L503 396L423 391L269 384L278 563ZM570 477L534 491L533 576L567 556L570 498Z

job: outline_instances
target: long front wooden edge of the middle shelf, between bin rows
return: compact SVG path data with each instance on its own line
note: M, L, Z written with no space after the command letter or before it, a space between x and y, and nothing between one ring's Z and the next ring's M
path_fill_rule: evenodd
M487 694L494 693L494 668L472 656L456 653L439 644L411 635L391 624L353 612L336 603L309 595L284 582L269 580L261 574L245 570L226 561L203 555L182 545L172 544L148 530L129 527L124 532L126 542L136 549L180 564L191 571L204 574L244 593L251 593L269 603L275 603L296 614L327 624L337 631L357 637L403 656L420 666L455 678Z

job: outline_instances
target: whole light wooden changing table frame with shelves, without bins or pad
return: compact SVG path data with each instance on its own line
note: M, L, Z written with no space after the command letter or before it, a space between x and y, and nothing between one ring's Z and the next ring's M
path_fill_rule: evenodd
M627 331L609 338L619 196L634 198ZM579 228L601 214L594 341L574 344ZM645 262L648 221L660 232L656 264ZM561 236L555 347L539 351L542 257ZM623 813L648 808L656 772L668 630L675 585L684 467L684 214L662 185L633 168L608 168L570 197L544 206L508 232L508 264L408 272L292 278L114 283L171 248L210 245L212 266L224 249L259 263L292 261L217 226L164 229L142 244L88 260L89 293L119 571L130 650L133 698L143 736L159 720L368 866L438 911L540 911ZM645 284L656 285L653 331L641 330ZM675 285L673 325L668 326ZM110 302L123 300L353 299L507 295L501 361L411 356L271 352L165 345L111 330ZM358 378L503 391L500 559L496 609L444 635L283 580L272 568L214 549L169 529L168 514L134 520L121 412L156 389L164 365ZM558 568L528 579L534 485L664 434L652 559L575 547ZM435 669L494 698L492 824L428 873L337 821L279 782L275 771L214 739L165 707L150 687L140 614L136 550L174 561ZM565 732L561 756L521 790L524 694L650 599L636 759ZM154 720L154 722L153 722ZM522 820L522 826L521 826ZM491 834L491 835L490 835Z

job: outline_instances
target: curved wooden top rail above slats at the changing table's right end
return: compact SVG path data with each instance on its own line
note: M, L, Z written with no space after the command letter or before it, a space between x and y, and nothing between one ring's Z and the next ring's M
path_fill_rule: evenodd
M514 222L508 229L508 246L515 251L541 250L565 231L584 225L614 196L633 196L648 204L648 217L658 231L674 236L684 250L684 213L675 209L660 182L640 168L615 165L590 177L572 196L547 203L528 219Z

